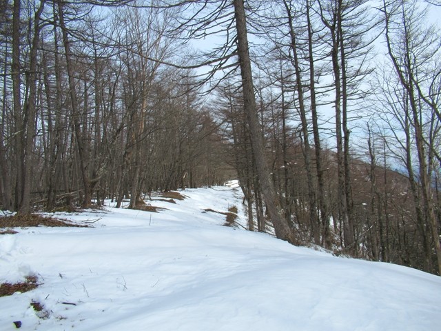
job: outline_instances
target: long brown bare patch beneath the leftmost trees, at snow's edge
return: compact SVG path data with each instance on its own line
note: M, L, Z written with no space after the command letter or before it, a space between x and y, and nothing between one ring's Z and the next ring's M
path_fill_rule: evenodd
M14 216L0 217L0 228L30 228L34 226L48 227L75 227L88 228L88 225L72 223L66 219L57 219L55 217L45 217L39 214L15 214ZM12 234L12 230L5 230ZM17 233L17 232L16 232ZM4 234L4 233L3 233Z

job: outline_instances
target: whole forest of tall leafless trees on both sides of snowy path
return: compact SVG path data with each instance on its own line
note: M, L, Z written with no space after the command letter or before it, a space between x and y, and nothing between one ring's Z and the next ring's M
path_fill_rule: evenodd
M440 11L1 0L2 208L236 178L249 230L441 274Z

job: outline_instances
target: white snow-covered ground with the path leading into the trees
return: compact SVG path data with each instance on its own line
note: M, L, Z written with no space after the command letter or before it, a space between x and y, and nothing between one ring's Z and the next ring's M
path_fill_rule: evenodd
M107 207L58 215L94 228L0 235L0 283L41 281L0 298L0 330L441 330L441 277L294 247L203 212L236 205L245 223L240 190L182 193L152 201L159 213Z

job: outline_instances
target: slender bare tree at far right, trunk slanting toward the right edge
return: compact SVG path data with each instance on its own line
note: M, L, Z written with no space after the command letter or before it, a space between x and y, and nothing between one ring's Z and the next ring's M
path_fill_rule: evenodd
M419 100L419 97L423 95L419 72L424 63L428 63L431 57L438 55L438 38L435 37L433 30L424 30L417 25L416 17L422 13L418 10L416 3L404 3L404 1L387 3L387 1L383 1L382 12L385 17L385 37L389 59L391 59L400 87L404 92L406 106L409 107L407 108L411 123L409 129L413 128L416 140L422 203L431 225L438 272L441 274L439 227L431 192L431 177L427 161L427 147L425 146L426 138L424 137L424 123L422 123L424 109ZM429 102L429 104L431 103ZM434 108L431 107L431 110Z

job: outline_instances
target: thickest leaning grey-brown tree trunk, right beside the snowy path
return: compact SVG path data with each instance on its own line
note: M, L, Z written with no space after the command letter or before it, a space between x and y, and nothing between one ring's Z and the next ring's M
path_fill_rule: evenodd
M267 161L265 158L265 147L263 146L263 135L258 121L256 97L254 94L251 61L249 59L249 46L247 37L247 26L245 19L245 8L243 0L234 0L234 17L236 18L236 32L238 40L238 58L240 63L240 74L242 76L244 109L247 114L249 132L252 139L252 149L256 160L256 168L260 181L265 203L267 204L269 217L274 225L276 236L279 239L294 243L294 234L289 223L283 217L280 202L274 190L274 185L269 178Z

